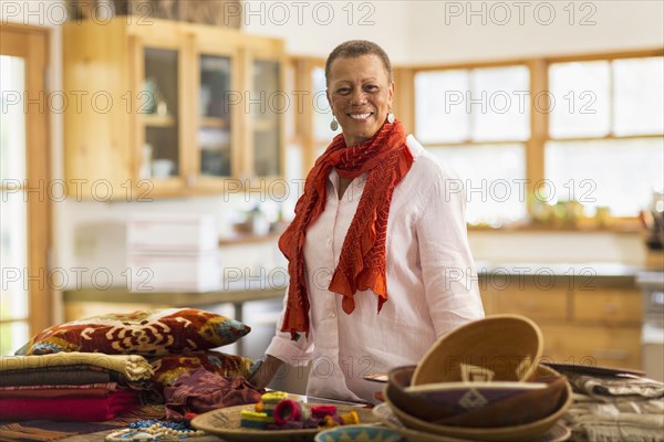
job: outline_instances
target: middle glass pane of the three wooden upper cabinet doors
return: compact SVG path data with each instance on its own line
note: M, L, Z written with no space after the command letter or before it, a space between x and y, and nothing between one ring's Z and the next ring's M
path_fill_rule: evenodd
M228 56L199 57L200 86L198 90L199 127L197 128L199 175L204 177L231 176L231 113L229 92L231 61Z

